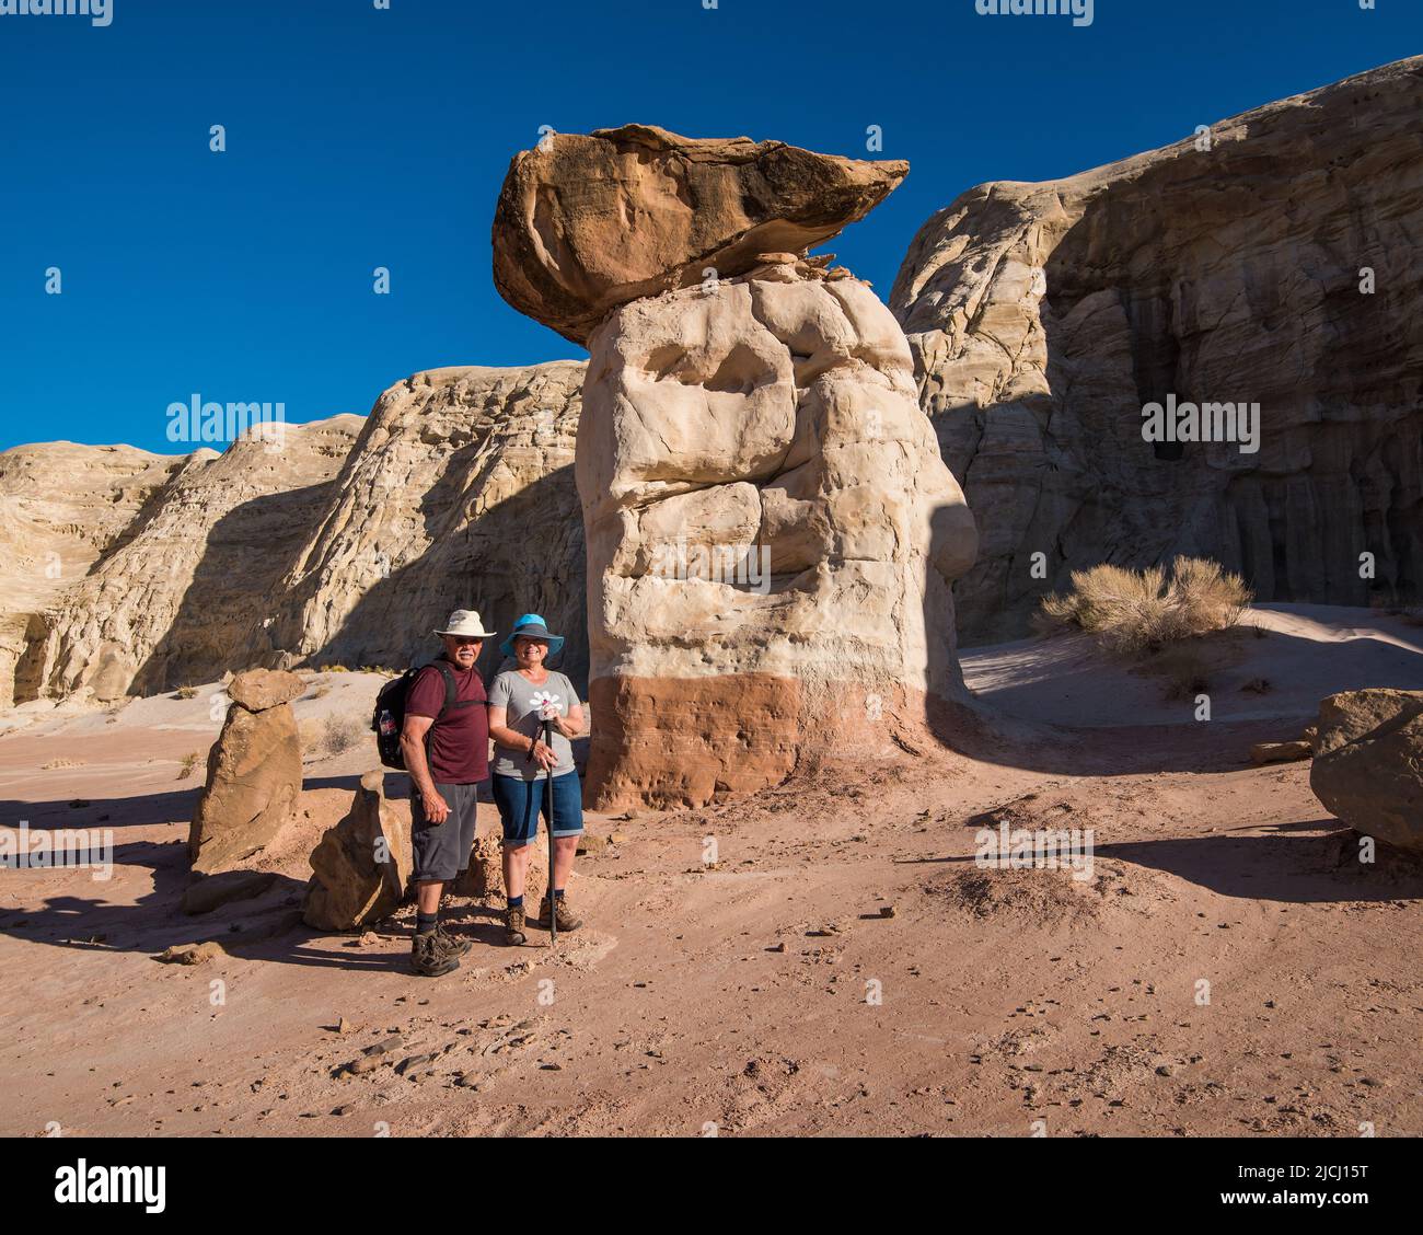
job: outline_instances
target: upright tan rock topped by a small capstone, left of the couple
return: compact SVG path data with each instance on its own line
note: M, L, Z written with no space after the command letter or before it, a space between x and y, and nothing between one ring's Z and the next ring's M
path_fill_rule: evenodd
M194 871L236 869L292 820L302 794L302 746L290 700L303 689L295 673L260 669L232 680L232 704L208 753L208 781L188 835Z

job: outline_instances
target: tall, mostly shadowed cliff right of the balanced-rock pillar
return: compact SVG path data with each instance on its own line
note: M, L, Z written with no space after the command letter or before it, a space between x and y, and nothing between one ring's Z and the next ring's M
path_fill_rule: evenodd
M983 532L961 639L1026 633L1099 562L1214 558L1262 600L1423 595L1420 105L1406 60L925 223L891 306ZM1259 451L1144 441L1168 396L1258 403Z

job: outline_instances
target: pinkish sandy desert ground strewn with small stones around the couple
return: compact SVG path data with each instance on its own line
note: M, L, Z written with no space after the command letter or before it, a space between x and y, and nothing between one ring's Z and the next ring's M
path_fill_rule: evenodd
M953 748L589 817L623 839L579 862L585 928L507 949L498 902L457 899L475 946L435 980L407 972L408 911L361 938L292 921L367 738L310 758L273 894L185 918L182 760L216 686L31 709L0 824L111 828L115 866L0 871L0 1133L1417 1135L1423 866L1360 865L1308 764L1247 754L1332 690L1423 689L1423 627L1249 620L1201 649L1210 721L1164 670L1030 640L965 654ZM374 689L313 676L305 731ZM982 868L1000 822L1090 828L1090 869ZM196 939L225 950L155 962Z

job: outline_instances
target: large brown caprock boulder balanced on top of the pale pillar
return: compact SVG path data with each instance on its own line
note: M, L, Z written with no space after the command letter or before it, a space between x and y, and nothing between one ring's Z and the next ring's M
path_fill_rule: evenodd
M586 343L619 304L804 253L862 219L909 165L653 125L551 134L515 155L494 216L494 283Z

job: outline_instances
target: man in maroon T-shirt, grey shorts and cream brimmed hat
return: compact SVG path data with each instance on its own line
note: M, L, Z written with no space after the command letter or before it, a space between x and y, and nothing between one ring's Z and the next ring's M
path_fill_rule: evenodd
M435 630L444 654L427 664L406 696L400 748L410 773L411 847L418 916L411 965L424 977L460 968L468 940L440 925L440 896L470 865L480 781L490 775L490 719L475 662L485 630L472 609L457 609Z

